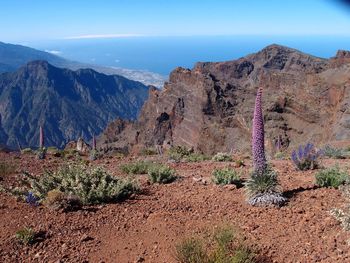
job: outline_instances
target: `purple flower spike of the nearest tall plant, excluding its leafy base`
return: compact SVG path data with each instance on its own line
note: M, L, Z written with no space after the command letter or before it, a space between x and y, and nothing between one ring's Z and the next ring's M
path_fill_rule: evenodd
M264 145L264 119L261 107L262 88L258 89L255 99L253 118L253 164L257 172L266 169L265 145Z

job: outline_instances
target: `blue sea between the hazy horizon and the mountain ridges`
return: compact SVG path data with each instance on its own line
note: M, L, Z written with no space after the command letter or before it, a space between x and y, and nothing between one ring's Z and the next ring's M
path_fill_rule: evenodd
M329 58L339 49L350 50L350 36L142 36L56 39L26 44L74 61L148 70L167 76L179 66L192 68L198 61L233 60L270 44Z

